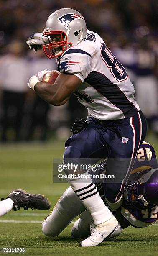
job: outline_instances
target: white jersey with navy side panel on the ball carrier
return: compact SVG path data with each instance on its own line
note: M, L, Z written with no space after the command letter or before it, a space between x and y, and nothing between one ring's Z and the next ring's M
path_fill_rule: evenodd
M125 68L97 33L87 30L86 40L67 49L58 68L81 79L82 84L74 94L92 117L114 120L138 113L134 87Z

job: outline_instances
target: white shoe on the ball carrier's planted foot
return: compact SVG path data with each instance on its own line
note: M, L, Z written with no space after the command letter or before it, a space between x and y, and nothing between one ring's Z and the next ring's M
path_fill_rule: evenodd
M114 225L112 227L113 223ZM110 220L105 222L105 224L107 225L102 226L102 228L96 226L91 236L89 236L87 239L80 242L79 246L82 246L82 247L97 246L109 238L113 238L114 236L119 236L120 233L122 232L122 228L114 216L112 216ZM91 230L93 230L93 228L91 228Z

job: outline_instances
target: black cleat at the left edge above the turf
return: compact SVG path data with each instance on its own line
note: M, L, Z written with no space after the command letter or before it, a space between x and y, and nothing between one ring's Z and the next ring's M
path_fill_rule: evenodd
M11 198L13 203L13 210L18 211L20 208L28 210L48 210L51 205L48 202L47 198L39 194L28 194L25 190L15 189L5 198Z

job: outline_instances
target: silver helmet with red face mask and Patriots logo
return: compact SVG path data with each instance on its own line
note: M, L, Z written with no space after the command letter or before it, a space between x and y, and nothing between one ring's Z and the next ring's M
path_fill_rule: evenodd
M42 46L43 51L49 59L61 56L66 49L86 38L86 34L86 23L81 13L69 8L56 10L46 21L43 36L47 36L49 44ZM60 39L52 42L55 36Z

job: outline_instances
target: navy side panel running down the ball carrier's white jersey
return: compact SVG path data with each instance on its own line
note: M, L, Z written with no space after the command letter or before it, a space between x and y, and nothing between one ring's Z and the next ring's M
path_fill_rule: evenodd
M113 84L105 75L92 71L84 81L92 85L107 100L119 108L125 118L130 118L138 113L137 108L127 99L117 84Z

